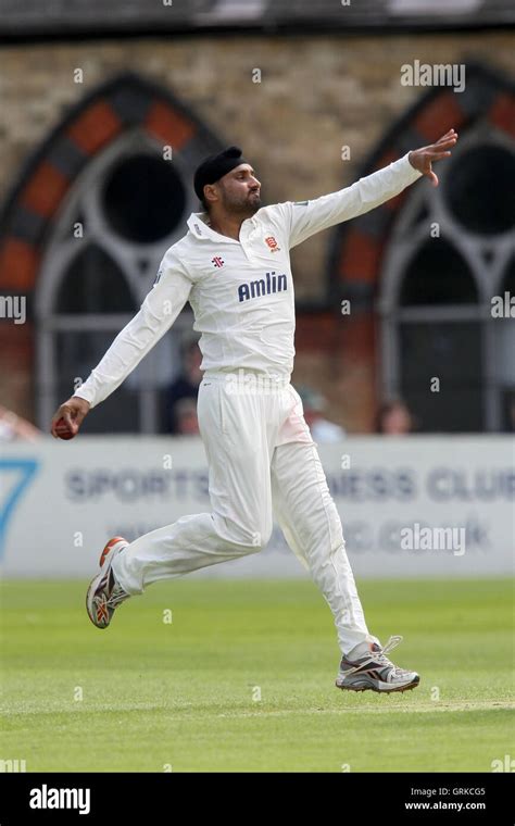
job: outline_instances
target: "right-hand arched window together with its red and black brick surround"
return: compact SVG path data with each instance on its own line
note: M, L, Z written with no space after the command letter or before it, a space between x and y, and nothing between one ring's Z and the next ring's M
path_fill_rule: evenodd
M341 366L351 378L360 370L364 429L400 395L422 431L514 429L515 317L491 305L513 298L514 104L508 78L467 64L463 93L423 92L361 168L369 175L450 126L460 135L436 165L440 186L417 182L334 234L330 295L352 305L339 320Z

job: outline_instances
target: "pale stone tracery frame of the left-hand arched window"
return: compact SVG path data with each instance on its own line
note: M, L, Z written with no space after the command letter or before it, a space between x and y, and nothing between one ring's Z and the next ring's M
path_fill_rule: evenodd
M36 416L41 429L47 428L54 410L64 401L58 398L58 334L67 330L75 333L112 330L114 339L138 312L145 297L152 288L155 273L166 249L184 236L185 220L197 206L197 199L186 185L189 168L177 153L173 157L173 163L179 177L185 182L186 200L183 215L173 230L158 241L142 243L129 241L111 227L108 216L103 215L101 209L102 187L111 168L122 159L129 158L133 154L149 153L162 158L162 152L163 146L139 128L126 130L121 138L96 157L77 177L53 221L52 234L45 248L35 293ZM74 223L79 215L84 216L84 237L76 238L73 230ZM63 314L56 312L59 289L71 262L79 254L83 245L92 243L96 243L112 258L125 278L135 303L135 311L131 315L128 313ZM145 274L140 266L143 260L146 261ZM176 318L173 334L167 333L166 336L174 335L177 338L177 348L180 348L181 341L191 335L191 326L192 312L187 305ZM140 375L143 376L141 387L137 389L140 422L138 433L141 434L160 431L159 395L161 387L155 380L158 362L158 353L153 349L138 365ZM95 366L96 364L91 364L91 370ZM72 383L74 378L71 377ZM86 380L87 376L80 378ZM70 395L72 396L73 392L72 384Z

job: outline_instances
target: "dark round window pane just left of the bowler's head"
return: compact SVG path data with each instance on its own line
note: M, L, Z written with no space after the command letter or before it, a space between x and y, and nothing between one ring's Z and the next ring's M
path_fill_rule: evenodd
M136 154L120 161L108 175L102 203L118 235L151 243L177 226L185 211L186 193L169 161Z

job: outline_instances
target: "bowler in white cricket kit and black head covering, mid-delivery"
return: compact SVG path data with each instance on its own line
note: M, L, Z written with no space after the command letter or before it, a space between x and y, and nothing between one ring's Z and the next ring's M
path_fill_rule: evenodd
M261 185L241 150L206 159L194 175L205 212L171 247L138 314L115 338L88 380L62 404L52 434L71 438L172 326L189 301L202 335L200 433L209 462L211 513L183 516L128 543L111 539L87 596L91 622L105 628L121 602L158 579L256 553L275 512L288 545L309 570L335 617L342 689L390 692L418 685L394 666L365 623L302 402L290 384L294 299L289 251L315 233L378 206L420 175L434 185L434 161L457 135L407 152L338 192L311 201L262 206Z

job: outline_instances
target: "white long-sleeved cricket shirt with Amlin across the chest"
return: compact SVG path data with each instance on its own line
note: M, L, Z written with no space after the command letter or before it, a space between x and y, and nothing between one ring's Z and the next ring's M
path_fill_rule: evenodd
M201 333L202 370L247 368L288 377L293 370L294 296L289 251L328 227L373 210L420 177L409 153L338 192L263 206L239 241L192 213L135 317L75 396L93 408L113 392L169 329L187 301Z

